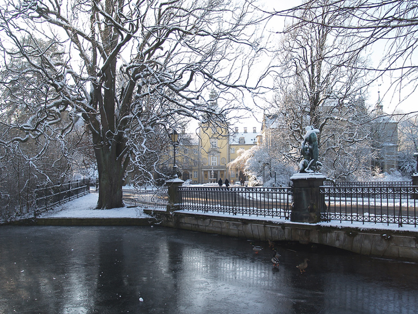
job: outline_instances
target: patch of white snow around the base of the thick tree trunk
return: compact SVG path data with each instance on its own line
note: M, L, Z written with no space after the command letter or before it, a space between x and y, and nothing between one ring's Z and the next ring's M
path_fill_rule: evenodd
M95 209L99 195L89 193L57 206L39 218L147 218L140 207Z

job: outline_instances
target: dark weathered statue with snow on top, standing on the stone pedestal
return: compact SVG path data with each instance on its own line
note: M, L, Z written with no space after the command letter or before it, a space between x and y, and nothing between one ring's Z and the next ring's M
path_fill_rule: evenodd
M318 136L317 128L313 126L305 127L306 133L300 149L303 159L299 163L299 172L317 172L322 163L318 161Z

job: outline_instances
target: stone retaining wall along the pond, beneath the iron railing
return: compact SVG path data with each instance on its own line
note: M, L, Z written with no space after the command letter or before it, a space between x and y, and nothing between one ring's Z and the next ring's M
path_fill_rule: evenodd
M359 254L418 262L418 232L332 227L297 222L216 217L195 213L161 214L163 225L259 241L299 241Z

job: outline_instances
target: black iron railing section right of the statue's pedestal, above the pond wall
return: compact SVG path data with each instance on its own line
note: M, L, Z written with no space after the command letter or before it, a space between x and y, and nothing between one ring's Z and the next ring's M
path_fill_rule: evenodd
M322 221L418 224L418 187L341 187L323 186L327 209Z

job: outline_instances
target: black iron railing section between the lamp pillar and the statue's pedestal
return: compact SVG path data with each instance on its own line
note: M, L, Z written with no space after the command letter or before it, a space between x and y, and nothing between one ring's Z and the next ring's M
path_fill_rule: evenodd
M203 213L290 218L292 188L180 187L180 209Z

